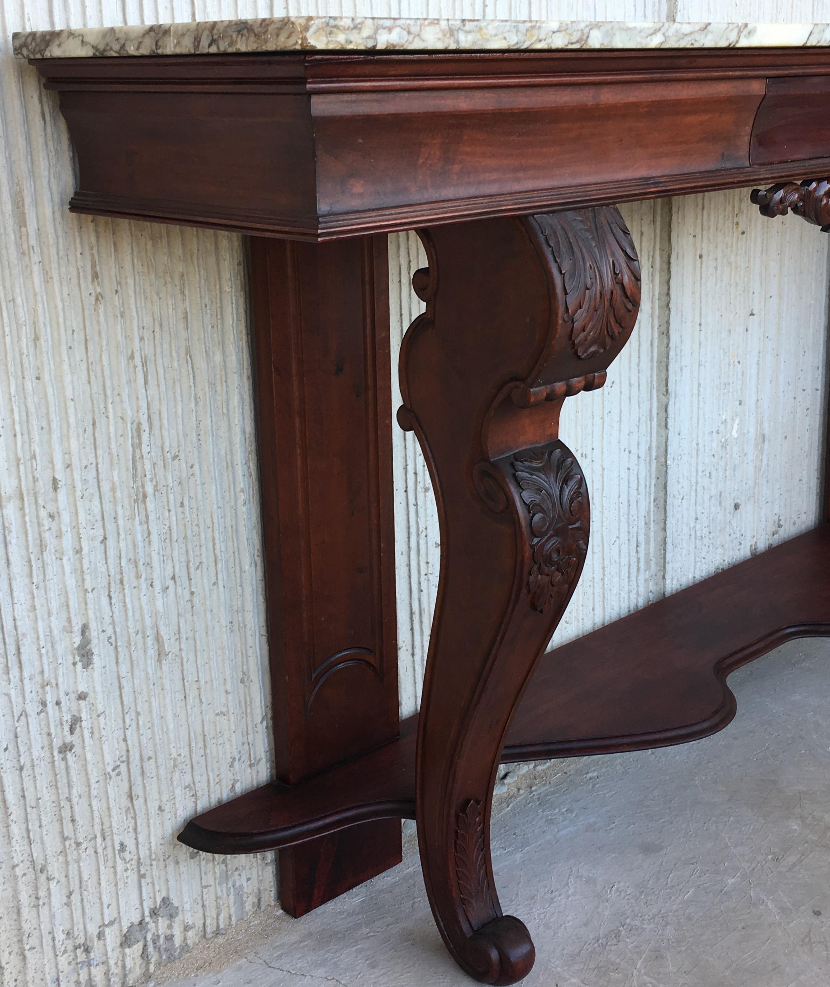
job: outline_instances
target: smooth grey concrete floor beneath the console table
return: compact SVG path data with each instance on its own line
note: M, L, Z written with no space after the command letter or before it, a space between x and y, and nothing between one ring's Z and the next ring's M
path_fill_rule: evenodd
M493 816L527 987L830 983L830 642L735 673L735 721L683 747L560 761ZM168 987L450 987L472 981L403 865L295 922L277 909L171 967Z

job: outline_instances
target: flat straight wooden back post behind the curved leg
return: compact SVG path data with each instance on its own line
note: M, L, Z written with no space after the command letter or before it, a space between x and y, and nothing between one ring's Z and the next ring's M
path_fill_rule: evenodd
M294 785L398 735L386 238L255 239L251 281L275 764ZM301 915L400 859L389 821L285 850L280 901Z

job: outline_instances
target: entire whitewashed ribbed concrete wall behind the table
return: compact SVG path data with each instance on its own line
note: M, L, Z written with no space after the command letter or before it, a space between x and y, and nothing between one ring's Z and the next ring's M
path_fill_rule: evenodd
M292 4L293 13L826 19L823 3ZM262 560L239 238L70 216L71 151L12 31L278 4L0 0L0 983L120 987L274 899L269 856L190 854L195 810L268 777ZM559 640L817 517L827 238L745 192L624 208L636 337L563 437L594 506ZM390 240L400 342L415 238ZM421 262L422 263L422 262ZM437 527L395 446L402 708ZM735 507L735 504L739 504Z

